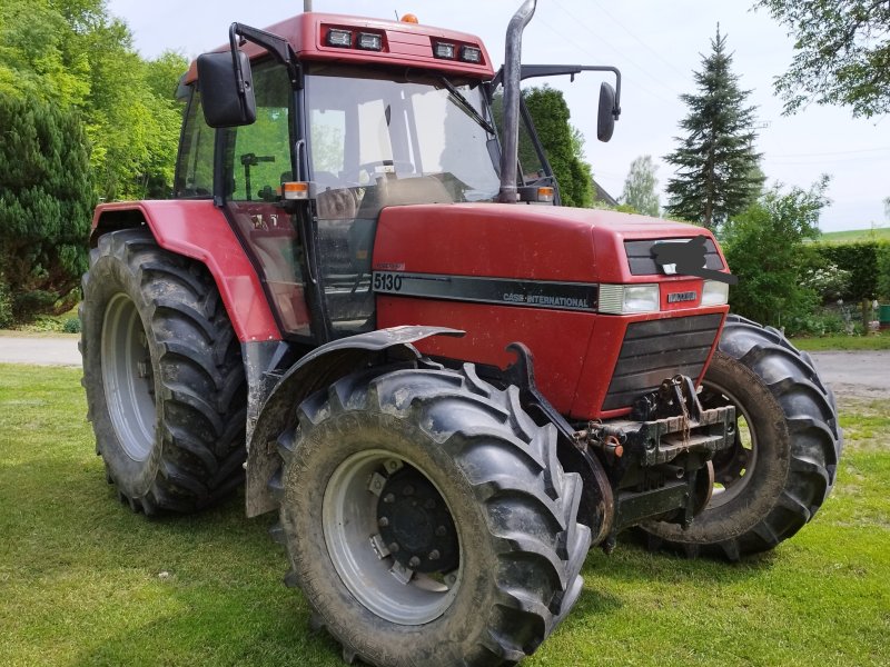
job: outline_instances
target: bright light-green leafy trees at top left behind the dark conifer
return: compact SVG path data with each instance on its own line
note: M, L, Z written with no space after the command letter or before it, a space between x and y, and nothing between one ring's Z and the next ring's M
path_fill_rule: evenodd
M0 92L76 110L92 146L97 195L165 195L172 182L187 67L175 53L145 61L106 0L3 0Z

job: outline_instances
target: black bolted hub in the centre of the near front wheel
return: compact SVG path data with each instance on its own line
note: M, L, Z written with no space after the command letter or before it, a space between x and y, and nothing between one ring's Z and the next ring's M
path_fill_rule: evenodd
M458 565L457 530L445 500L414 468L386 480L377 526L392 557L414 571L449 571Z

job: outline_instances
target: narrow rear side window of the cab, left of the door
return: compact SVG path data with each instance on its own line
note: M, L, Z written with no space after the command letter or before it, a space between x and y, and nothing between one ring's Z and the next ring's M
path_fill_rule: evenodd
M174 196L202 199L214 193L215 131L204 121L200 92L195 90L186 111L182 142L176 161Z

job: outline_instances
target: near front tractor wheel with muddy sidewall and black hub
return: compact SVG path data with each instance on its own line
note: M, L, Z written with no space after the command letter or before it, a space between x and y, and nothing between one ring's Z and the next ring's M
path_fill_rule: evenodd
M278 439L274 532L344 658L514 664L572 608L590 548L581 478L518 390L461 371L353 375Z

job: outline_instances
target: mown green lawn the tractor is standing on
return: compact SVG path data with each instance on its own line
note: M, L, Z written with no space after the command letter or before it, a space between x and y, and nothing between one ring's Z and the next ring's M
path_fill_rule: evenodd
M147 520L105 484L76 369L0 366L0 665L342 665L241 499ZM848 402L834 494L741 565L591 552L523 665L890 664L890 401Z

